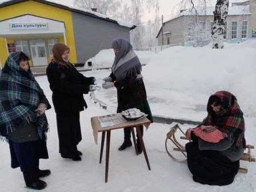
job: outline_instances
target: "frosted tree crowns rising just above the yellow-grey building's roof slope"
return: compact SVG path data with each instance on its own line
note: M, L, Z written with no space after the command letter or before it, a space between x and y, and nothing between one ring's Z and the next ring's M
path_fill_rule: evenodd
M105 15L115 15L121 8L119 0L74 0L73 5L87 10L96 8L99 13Z

